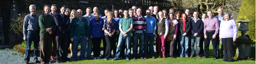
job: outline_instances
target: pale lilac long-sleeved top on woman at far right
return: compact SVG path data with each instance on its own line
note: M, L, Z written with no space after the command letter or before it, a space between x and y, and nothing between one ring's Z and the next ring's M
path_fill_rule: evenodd
M236 38L237 37L237 26L235 20L221 20L219 27L220 38Z

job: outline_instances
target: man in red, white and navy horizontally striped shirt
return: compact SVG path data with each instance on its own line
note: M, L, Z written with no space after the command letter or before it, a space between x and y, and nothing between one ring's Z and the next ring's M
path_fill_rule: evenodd
M147 22L146 18L141 15L141 9L137 9L137 15L133 16L134 27L133 31L133 52L137 52L137 44L139 39L139 58L143 59L143 42L144 42L144 33L146 31ZM137 53L133 54L133 59L135 60L137 57Z

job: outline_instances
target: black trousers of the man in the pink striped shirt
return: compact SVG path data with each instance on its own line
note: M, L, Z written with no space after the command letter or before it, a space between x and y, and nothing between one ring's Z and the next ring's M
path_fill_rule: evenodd
M204 57L208 58L209 57L209 45L210 45L210 41L213 47L213 51L212 51L212 58L217 58L217 46L218 43L217 42L217 38L212 38L212 36L214 35L215 31L213 32L208 32L206 31L206 36L207 38L204 38ZM218 37L216 35L216 37Z

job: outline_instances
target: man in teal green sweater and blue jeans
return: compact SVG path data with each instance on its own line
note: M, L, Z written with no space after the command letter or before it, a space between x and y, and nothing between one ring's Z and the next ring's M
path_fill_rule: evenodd
M73 62L78 60L78 44L80 42L81 50L80 50L80 60L85 59L85 51L86 51L86 40L89 38L89 27L87 19L82 17L83 11L78 9L76 11L77 16L71 20L70 24L70 40L73 42L74 50L73 50Z

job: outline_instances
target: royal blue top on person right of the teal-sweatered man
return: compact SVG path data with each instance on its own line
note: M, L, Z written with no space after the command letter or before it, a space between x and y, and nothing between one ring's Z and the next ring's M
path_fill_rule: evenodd
M93 36L93 38L95 37L103 37L103 31L102 31L102 27L103 27L103 22L104 20L102 18L98 19L98 26L94 18L91 18L90 23L89 23L89 36Z

